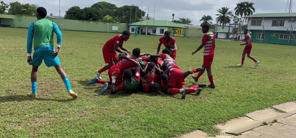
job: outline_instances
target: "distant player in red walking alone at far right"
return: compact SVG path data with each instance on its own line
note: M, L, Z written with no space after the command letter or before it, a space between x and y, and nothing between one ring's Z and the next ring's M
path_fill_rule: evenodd
M259 61L255 60L254 57L250 56L251 49L252 49L252 39L251 39L251 35L248 33L248 29L244 29L244 39L246 40L246 43L240 44L240 45L246 45L244 47L244 52L242 53L242 63L237 64L237 66L239 67L244 66L244 57L247 53L247 57L249 57L251 60L255 62L255 68L256 68L259 64Z

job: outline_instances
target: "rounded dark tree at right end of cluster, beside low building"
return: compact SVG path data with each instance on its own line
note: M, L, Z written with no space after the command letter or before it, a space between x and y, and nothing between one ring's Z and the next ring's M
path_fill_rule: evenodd
M144 11L142 12L142 10L138 6L124 5L119 7L116 10L115 17L117 20L120 21L120 23L130 23L130 22L138 22L139 19L144 17L145 14L146 12Z

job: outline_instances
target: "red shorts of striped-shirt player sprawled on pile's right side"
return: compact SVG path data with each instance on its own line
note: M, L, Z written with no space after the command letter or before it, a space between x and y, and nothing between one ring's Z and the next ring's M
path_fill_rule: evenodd
M174 68L170 71L170 76L168 77L168 85L175 88L181 88L183 85L185 85L182 70Z

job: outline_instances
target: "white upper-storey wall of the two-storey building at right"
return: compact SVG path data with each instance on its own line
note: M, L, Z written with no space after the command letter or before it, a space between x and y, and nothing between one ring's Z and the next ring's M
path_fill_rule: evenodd
M284 26L283 27L278 27L278 26L271 26L272 25L272 20L282 20L284 19ZM263 29L263 25L264 25L264 30L281 30L281 31L287 31L291 29L291 24L292 27L295 28L296 27L296 23L295 22L289 22L289 19L292 19L292 17L278 17L278 18L249 18L248 21L248 29L251 30L261 30ZM294 19L296 19L296 17L294 17ZM262 20L261 26L251 26L252 21L251 20Z

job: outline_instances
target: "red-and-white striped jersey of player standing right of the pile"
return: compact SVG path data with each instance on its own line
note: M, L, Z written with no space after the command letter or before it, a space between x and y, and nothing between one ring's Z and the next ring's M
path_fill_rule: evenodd
M214 57L215 35L210 31L205 33L202 43L205 44L204 56Z

